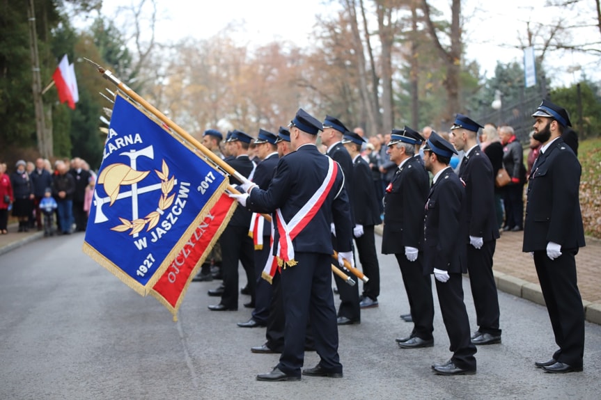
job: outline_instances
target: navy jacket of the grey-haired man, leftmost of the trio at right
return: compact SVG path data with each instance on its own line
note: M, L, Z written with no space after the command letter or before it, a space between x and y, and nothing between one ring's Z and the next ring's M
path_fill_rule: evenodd
M405 246L423 250L423 207L430 177L416 157L397 169L384 193L382 254L405 253Z

